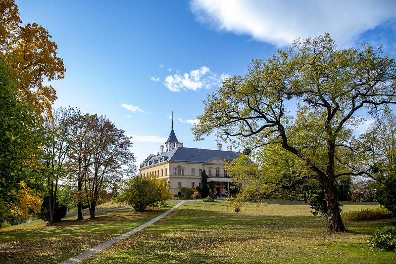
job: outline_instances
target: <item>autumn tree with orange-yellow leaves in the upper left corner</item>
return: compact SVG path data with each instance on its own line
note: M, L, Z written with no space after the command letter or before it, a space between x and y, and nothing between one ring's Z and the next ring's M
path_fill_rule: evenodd
M22 24L14 0L0 0L0 61L17 80L19 98L43 120L52 120L56 100L55 89L44 82L63 79L66 71L57 48L43 26Z

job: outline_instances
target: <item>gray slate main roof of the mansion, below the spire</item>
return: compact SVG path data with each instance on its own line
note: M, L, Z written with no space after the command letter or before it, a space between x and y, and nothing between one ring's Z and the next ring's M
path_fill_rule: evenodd
M173 129L172 129L173 131ZM177 141L176 141L177 142ZM213 149L202 149L202 148L185 148L178 147L164 153L160 153L149 157L140 165L140 168L155 165L165 161L181 161L181 162L207 162L214 158L221 158L226 161L230 161L238 158L239 151L225 151L225 150L213 150Z

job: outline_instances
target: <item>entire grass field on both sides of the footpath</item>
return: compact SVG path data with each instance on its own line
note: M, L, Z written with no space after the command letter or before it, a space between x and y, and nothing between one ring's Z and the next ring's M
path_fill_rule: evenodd
M239 214L224 201L187 202L85 263L396 263L395 253L371 249L365 241L378 228L396 225L395 220L346 222L347 232L330 234L325 220L312 216L304 203L267 202L248 204ZM344 204L345 211L378 206ZM161 212L112 212L93 221L66 220L33 230L0 231L0 259L62 261Z

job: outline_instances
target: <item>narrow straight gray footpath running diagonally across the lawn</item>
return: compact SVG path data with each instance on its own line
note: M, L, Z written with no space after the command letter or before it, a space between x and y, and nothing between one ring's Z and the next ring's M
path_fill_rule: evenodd
M105 250L106 248L108 248L109 246L117 243L118 241L123 240L124 238L127 238L128 236L131 236L133 234L135 234L136 232L144 229L145 227L148 227L149 225L155 223L156 221L160 220L161 218L169 215L173 210L175 210L176 208L178 208L179 206L181 206L182 204L184 204L185 202L189 202L192 200L185 200L185 201L181 201L180 203L178 203L177 205L175 205L174 207L172 207L171 209L169 209L168 211L166 211L165 213L163 213L160 216L157 216L154 219L149 220L148 222L136 227L135 229L132 229L131 231L126 232L125 234L119 235L117 237L114 237L113 239L110 239L106 242L103 242L101 244L99 244L96 247L93 247L92 249L89 249L73 258L70 258L68 260L63 261L61 264L75 264L75 263L80 263L86 259L88 259L91 256L94 256L95 254L98 254L100 251Z

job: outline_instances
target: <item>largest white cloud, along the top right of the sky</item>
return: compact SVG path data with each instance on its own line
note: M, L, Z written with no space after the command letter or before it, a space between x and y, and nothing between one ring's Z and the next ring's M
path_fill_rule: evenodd
M286 46L325 32L342 46L396 18L395 0L192 0L196 19L220 31Z

